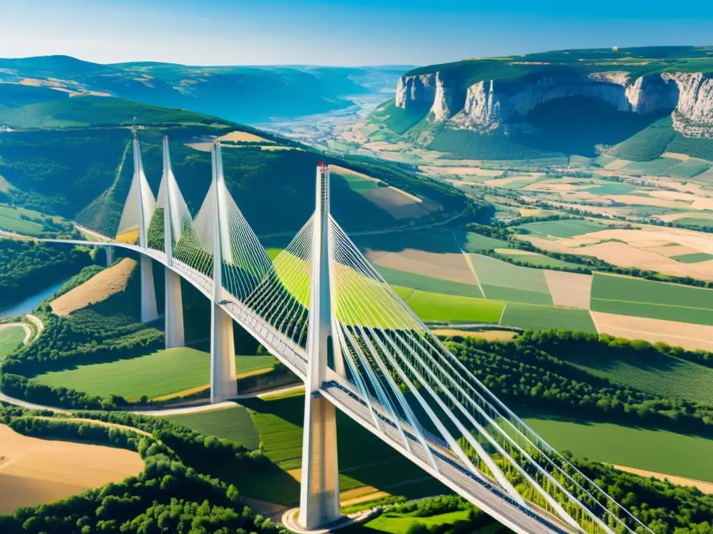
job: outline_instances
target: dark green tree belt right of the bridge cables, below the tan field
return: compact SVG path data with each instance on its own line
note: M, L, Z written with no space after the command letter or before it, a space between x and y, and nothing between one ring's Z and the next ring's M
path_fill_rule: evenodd
M541 340L541 342L540 342ZM562 340L560 343L559 340ZM541 344L540 344L541 343ZM636 344L608 337L553 331L525 332L511 343L475 337L452 338L446 345L473 375L509 405L554 414L575 413L611 422L713 434L713 405L662 397L596 377L563 360L567 355L626 357ZM649 345L647 350L656 350ZM641 352L639 356L645 356Z

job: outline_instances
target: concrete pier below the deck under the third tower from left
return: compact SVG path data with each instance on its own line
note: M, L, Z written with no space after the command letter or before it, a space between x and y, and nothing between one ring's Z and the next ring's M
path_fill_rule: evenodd
M232 317L216 303L210 315L210 402L237 395Z

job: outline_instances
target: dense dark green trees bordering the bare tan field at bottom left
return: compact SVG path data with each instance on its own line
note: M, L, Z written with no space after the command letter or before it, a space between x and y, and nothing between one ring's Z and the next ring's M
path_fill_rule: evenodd
M281 531L270 520L241 506L235 486L206 476L184 463L183 455L163 439L173 431L180 436L178 425L167 426L161 436L138 436L116 427L37 419L26 413L22 416L17 416L17 409L0 407L0 417L10 417L10 426L21 434L91 441L138 451L146 466L139 476L123 482L88 490L58 503L19 508L11 515L0 515L0 532L4 534L277 534ZM176 439L180 440L178 436ZM208 453L203 451L203 454ZM244 451L240 456L243 461L254 461Z

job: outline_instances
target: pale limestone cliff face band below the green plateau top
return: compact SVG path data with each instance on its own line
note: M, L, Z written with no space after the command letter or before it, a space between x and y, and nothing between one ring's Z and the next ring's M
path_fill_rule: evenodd
M453 129L508 131L526 126L538 105L563 97L603 100L622 112L674 110L674 127L694 137L713 137L713 78L700 73L647 74L625 71L543 75L528 82L487 80L466 90L440 72L401 76L396 106L429 112L429 120Z

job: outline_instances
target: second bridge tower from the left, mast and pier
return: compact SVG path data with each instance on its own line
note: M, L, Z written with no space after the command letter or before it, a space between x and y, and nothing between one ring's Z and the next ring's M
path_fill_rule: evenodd
M166 253L165 272L165 342L166 348L185 346L185 335L183 330L183 296L180 289L180 276L173 271L173 239L180 239L180 218L176 219L173 191L173 171L171 170L171 159L168 152L168 137L163 136L163 185L165 187L165 198L163 206L163 246ZM174 228L175 220L178 228Z

